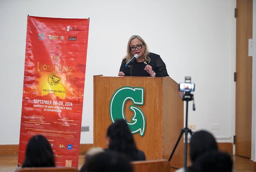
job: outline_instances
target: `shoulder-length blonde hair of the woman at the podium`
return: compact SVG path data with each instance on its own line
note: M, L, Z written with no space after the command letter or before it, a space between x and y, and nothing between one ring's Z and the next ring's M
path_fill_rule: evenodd
M126 59L126 63L133 57L131 50L130 50L130 44L131 41L137 38L142 42L142 45L145 46L145 51L144 54L142 56L142 60L145 63L147 61L147 63L150 62L150 58L149 58L149 50L148 50L148 46L146 44L146 42L139 36L139 35L132 35L127 43L127 50L126 50L126 56L124 56L123 60Z

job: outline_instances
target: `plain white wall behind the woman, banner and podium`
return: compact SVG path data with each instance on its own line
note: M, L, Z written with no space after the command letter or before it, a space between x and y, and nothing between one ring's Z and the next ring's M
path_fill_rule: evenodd
M191 76L189 124L232 142L235 116L235 0L1 0L0 145L19 144L27 15L90 17L81 143L93 143L93 75L116 76L129 37L159 54L176 82ZM211 130L210 124L220 124ZM4 132L3 132L4 131ZM102 131L105 132L105 131Z

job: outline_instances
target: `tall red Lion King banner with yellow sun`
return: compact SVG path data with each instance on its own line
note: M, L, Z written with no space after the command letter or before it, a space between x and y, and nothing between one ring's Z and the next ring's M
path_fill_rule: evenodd
M44 135L56 166L78 167L89 19L28 16L18 163Z

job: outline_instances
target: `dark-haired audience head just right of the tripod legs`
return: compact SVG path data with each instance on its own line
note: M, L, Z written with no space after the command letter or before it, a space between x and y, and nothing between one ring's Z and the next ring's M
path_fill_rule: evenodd
M191 136L190 158L192 163L194 163L197 157L211 150L218 151L217 143L212 134L207 131L201 130L195 132Z

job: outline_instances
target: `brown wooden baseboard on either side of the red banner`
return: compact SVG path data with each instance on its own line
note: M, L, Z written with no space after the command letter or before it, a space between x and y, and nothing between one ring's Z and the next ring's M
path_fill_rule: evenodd
M84 155L93 144L80 144L79 155ZM19 145L0 145L0 156L14 156L19 153Z

